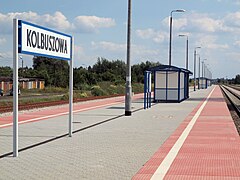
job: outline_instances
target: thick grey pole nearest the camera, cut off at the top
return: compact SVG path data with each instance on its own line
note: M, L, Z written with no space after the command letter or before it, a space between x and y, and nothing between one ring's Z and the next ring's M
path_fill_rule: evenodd
M132 115L132 85L131 85L131 0L128 0L128 26L127 26L127 69L126 69L126 93L125 93L125 116Z

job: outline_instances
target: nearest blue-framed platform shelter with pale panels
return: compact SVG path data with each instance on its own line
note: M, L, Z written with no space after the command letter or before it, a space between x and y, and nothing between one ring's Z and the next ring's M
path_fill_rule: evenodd
M150 71L154 76L154 102L181 102L189 98L191 71L169 65L156 66Z

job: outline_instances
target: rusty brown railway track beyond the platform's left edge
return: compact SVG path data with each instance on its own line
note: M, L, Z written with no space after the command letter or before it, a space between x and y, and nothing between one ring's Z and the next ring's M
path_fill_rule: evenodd
M109 96L95 96L95 97L86 97L86 98L80 98L80 99L74 99L73 102L83 102L83 101L90 101L90 100L98 100L98 99L105 99L105 98L111 98L111 97L117 97L122 95L109 95ZM51 101L51 102L39 102L39 103L31 103L31 104L19 104L18 109L21 110L30 110L30 109L36 109L36 108L43 108L43 107L49 107L49 106L57 106L57 105L63 105L68 104L68 100L61 100L61 101ZM0 106L0 113L6 113L6 112L12 112L13 106Z

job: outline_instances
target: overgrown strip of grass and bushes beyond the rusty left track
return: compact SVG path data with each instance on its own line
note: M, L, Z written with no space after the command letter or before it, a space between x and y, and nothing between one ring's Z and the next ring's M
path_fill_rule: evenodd
M143 92L143 84L133 83L132 91L134 93ZM19 104L34 104L40 102L52 102L59 100L68 100L69 92L68 88L56 88L46 87L43 90L40 89L23 89L21 90L21 96ZM74 90L73 98L86 98L92 96L107 96L125 94L125 85L113 84L112 82L100 82L97 85L90 86L85 90ZM22 97L22 98L21 98ZM28 98L29 97L29 98ZM12 98L1 102L0 106L11 106Z

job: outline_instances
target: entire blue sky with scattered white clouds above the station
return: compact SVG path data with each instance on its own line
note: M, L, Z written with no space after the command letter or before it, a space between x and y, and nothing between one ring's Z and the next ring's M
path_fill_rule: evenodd
M12 21L18 18L74 37L74 67L98 57L126 62L128 0L0 0L0 66L12 67ZM240 74L240 0L132 0L131 64L168 64L169 16L173 13L172 65L189 69L195 47L213 78ZM24 66L32 56L21 55ZM21 65L21 63L19 63ZM198 68L197 68L198 69Z

